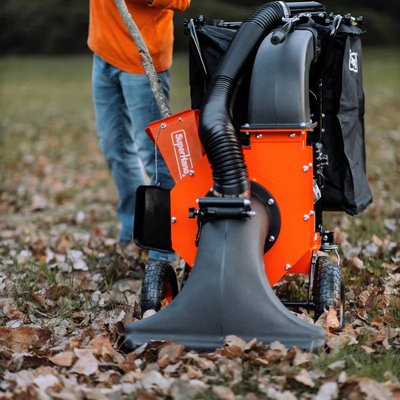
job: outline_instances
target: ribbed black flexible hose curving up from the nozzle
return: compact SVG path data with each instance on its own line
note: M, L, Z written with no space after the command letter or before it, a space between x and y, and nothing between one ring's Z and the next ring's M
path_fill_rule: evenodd
M240 25L212 76L200 110L199 138L211 164L217 195L246 195L250 185L241 145L232 123L245 62L289 9L282 1L261 5Z

